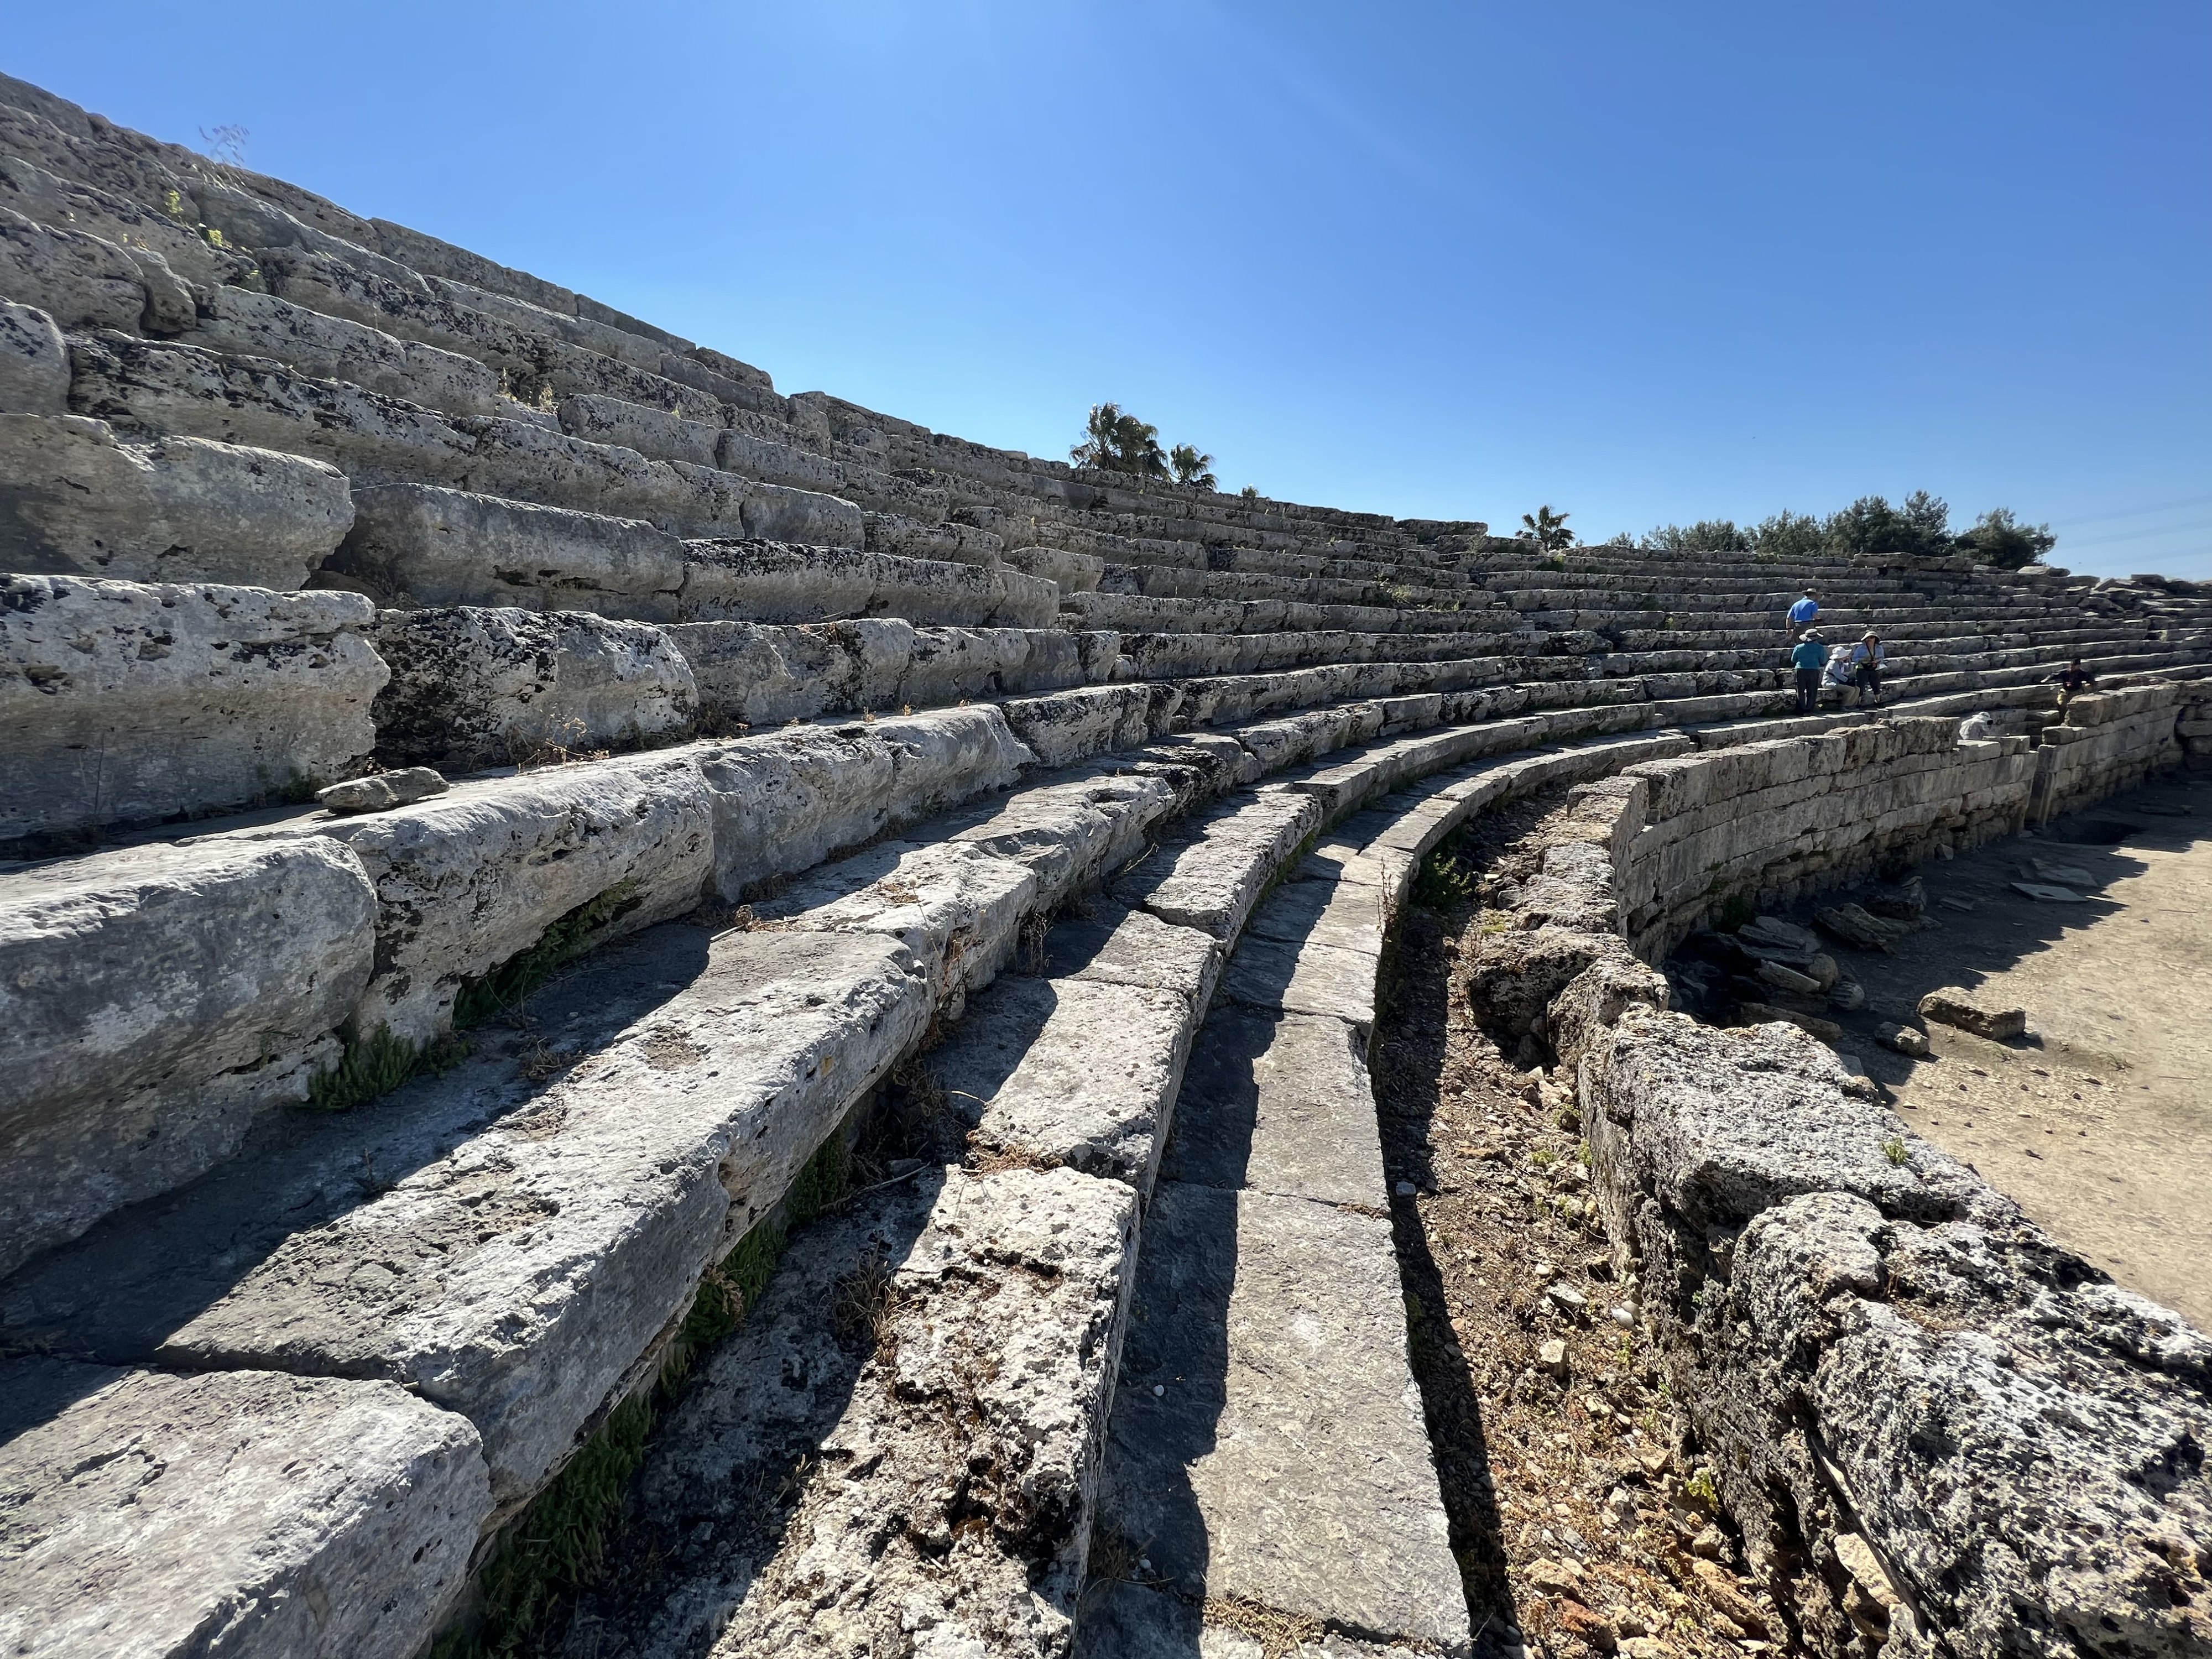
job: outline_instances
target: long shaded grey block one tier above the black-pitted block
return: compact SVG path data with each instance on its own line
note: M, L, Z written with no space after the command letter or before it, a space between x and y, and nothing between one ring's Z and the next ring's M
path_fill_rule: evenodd
M675 622L684 544L637 518L573 513L436 484L354 491L323 586L387 606L524 606Z

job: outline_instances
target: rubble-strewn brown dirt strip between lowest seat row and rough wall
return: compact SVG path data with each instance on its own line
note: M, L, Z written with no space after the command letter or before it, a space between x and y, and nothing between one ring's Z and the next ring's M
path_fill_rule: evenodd
M1447 852L1480 874L1555 805L1486 814ZM1413 1371L1478 1650L1783 1650L1710 1475L1674 1455L1659 1369L1613 1316L1624 1287L1571 1091L1517 1071L1453 995L1482 920L1473 883L1420 885L1374 1048Z

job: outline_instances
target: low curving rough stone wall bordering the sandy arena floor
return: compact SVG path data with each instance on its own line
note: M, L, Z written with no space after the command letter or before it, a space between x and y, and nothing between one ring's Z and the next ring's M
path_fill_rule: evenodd
M1898 721L1626 768L1577 790L1504 894L1522 925L1469 973L1478 1018L1575 1071L1646 1340L1745 1562L1823 1659L2212 1650L2212 1343L1803 1031L1666 1011L1621 933L1655 953L1728 896L1993 836L2053 776L2042 754L2095 754L2053 799L2126 787L2192 697L2101 699L2084 730L2119 728L2108 745Z

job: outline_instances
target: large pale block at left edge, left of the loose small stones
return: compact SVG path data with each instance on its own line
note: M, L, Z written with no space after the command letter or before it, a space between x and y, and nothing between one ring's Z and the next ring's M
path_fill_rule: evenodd
M0 845L259 803L369 752L354 593L0 577Z

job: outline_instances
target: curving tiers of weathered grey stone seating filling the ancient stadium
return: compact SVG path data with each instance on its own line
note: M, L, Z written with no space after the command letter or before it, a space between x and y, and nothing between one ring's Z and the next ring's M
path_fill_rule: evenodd
M1785 717L1807 582L1927 712L2212 659L2185 584L783 396L4 77L0 500L27 1655L1462 1652L1365 1084L1420 856L1865 723Z

